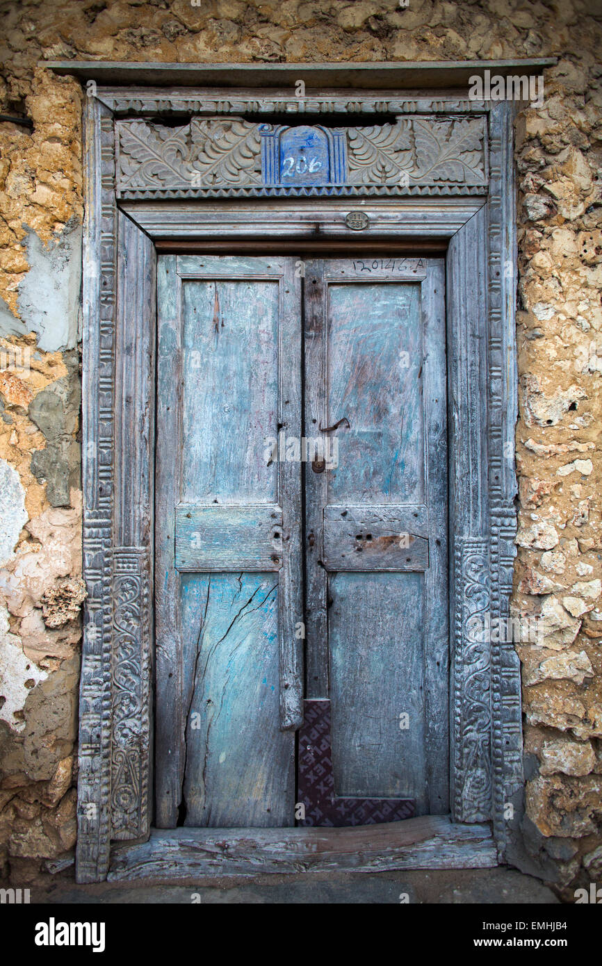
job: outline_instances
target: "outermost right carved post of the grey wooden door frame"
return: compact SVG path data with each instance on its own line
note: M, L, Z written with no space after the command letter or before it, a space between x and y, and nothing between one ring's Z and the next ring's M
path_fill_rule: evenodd
M489 494L492 625L502 633L492 646L492 760L494 832L501 860L512 827L520 823L523 734L520 662L505 633L516 547L517 492L514 434L516 398L516 205L513 178L514 105L490 115L489 216ZM520 793L517 800L517 793ZM506 806L512 806L506 813Z

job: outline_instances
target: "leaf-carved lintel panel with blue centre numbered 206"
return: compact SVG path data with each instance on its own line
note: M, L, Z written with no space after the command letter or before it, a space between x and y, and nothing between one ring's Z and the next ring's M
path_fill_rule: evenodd
M371 128L283 127L241 118L192 118L181 128L117 121L122 198L291 192L484 192L483 117L400 117Z

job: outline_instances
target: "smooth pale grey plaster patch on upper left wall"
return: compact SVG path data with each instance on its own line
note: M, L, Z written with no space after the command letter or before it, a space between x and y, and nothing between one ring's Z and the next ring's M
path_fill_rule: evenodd
M72 218L47 246L27 229L30 269L18 287L17 307L27 331L38 333L44 352L77 344L81 286L81 225ZM22 334L22 333L21 333Z

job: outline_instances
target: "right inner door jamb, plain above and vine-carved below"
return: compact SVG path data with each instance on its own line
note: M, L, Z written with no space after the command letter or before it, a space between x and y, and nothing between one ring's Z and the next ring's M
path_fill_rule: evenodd
M456 821L491 818L487 372L487 216L482 208L447 252L450 359L451 782ZM480 623L479 623L480 622Z

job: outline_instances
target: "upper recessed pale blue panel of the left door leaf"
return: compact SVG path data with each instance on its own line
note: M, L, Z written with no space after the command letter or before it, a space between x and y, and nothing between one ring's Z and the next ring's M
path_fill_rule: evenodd
M278 421L279 289L255 278L183 285L185 503L277 502L264 452Z

